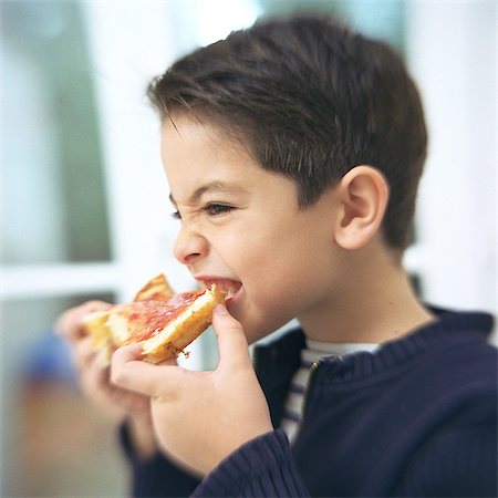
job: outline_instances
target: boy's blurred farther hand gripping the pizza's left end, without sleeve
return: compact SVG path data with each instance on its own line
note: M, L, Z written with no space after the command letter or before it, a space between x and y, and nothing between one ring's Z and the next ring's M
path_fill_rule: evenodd
M73 355L77 380L83 394L103 414L115 422L129 423L135 450L141 456L155 453L157 446L152 429L151 400L148 396L118 387L110 382L110 365L102 351L96 351L82 326L84 317L94 311L105 311L111 304L89 301L72 308L61 315L55 330L68 340Z

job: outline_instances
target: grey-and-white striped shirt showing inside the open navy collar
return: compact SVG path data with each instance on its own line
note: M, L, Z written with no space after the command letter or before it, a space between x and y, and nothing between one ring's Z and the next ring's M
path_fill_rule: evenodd
M292 377L283 407L281 427L289 440L294 442L303 411L304 393L308 387L310 369L313 363L325 356L344 356L360 351L373 352L378 344L371 343L334 343L307 339L307 346L301 351L301 364Z

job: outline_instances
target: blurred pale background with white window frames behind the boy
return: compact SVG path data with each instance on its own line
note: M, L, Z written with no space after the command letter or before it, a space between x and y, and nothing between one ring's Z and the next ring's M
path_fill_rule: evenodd
M129 300L177 231L145 86L260 15L332 12L405 58L429 158L405 263L428 302L496 313L494 0L1 1L2 497L127 495L113 424L80 395L58 315ZM216 356L212 335L191 367Z

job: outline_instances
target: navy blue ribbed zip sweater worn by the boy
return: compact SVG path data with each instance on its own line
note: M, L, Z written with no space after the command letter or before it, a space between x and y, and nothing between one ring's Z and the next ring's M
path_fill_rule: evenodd
M438 314L375 353L321 360L293 446L276 429L241 446L200 484L160 455L134 458L123 430L134 496L496 497L492 319ZM294 330L256 351L274 427L303 346Z

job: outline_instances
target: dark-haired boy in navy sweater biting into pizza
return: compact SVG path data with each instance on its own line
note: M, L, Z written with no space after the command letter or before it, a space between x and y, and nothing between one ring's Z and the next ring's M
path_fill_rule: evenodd
M135 495L496 495L491 318L424 305L401 262L426 152L401 60L297 17L199 49L149 96L175 256L231 297L215 372L151 365L135 345L108 383L77 332L100 304L61 322L89 392L127 407ZM248 343L292 318L256 347L257 377Z

